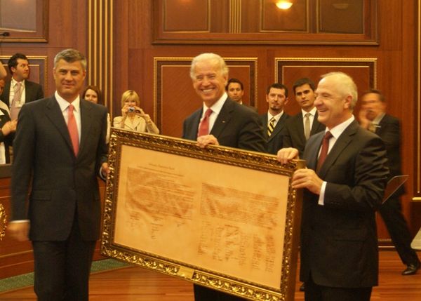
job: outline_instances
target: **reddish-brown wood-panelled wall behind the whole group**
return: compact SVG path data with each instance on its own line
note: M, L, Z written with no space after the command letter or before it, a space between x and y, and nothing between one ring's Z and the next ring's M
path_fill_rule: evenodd
M208 38L201 32L195 32L190 37L196 39L194 41L182 39L182 34L179 34L175 35L178 39L175 41L171 32L160 34L156 31L164 28L156 18L159 15L156 10L160 9L156 6L158 1L49 0L48 41L2 43L0 55L10 56L19 51L46 58L45 93L51 95L54 91L51 74L54 55L64 48L78 48L87 53L88 63L89 59L93 60L87 83L96 83L107 91L107 107L113 116L119 115L121 93L130 88L139 93L142 108L157 121L161 132L177 137L181 135L182 120L201 106L189 79L189 60L199 53L214 52L227 58L230 76L246 84L246 102L258 107L260 114L267 110L265 90L269 84L282 80L290 87L300 74L308 74L318 81L314 77L330 67L351 68L350 73L356 76L359 83L359 91L377 86L386 95L387 111L402 121L403 172L410 175L406 185L407 194L403 197L403 212L415 234L421 227L421 0L379 0L377 6L373 6L374 1L364 1L365 5L370 4L371 11L377 10L377 18L374 23L366 23L369 26L364 27L365 33L352 36L345 44L338 43L338 36L333 33L325 34L326 41L330 42L318 43L311 35L311 32L317 31L317 27L310 17L307 19L309 24L294 25L305 27L305 33L285 36L279 32L255 32L260 28L251 19L255 9L245 4L267 4L268 1L194 1L207 7L211 5L214 11L230 8L235 15L217 14L215 18L218 18L218 22L215 22L215 18L203 22L203 18L199 18L201 15L194 15L193 11L190 15L196 18L192 18L196 20L194 26L205 28L211 24L209 28L216 33ZM175 1L172 3L175 4ZM243 13L240 13L239 6L243 7ZM309 9L314 8L311 6ZM177 27L175 21L168 20L166 26ZM240 25L248 28L249 33L239 33ZM221 32L229 32L231 36L227 39L227 35ZM265 41L259 40L260 34L265 34ZM172 39L171 43L166 39ZM288 60L293 63L288 65ZM340 60L343 60L343 64ZM314 61L316 68L312 65ZM310 65L312 68L309 68ZM98 79L99 83L96 82ZM298 106L292 95L290 100L286 112L295 114ZM4 195L6 192L0 191L3 201L7 198ZM384 225L381 221L378 225L380 241L389 243ZM2 243L0 246L3 246ZM30 246L10 248L19 254ZM8 265L8 257L2 254L0 265ZM15 274L28 272L27 269L32 267L30 260L29 257L22 257L20 266L9 265L8 270L14 269Z

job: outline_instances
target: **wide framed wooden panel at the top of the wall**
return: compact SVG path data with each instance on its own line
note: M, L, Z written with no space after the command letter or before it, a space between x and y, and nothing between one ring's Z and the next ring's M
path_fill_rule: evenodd
M284 11L273 0L156 0L152 43L378 45L380 1L354 2L296 0Z

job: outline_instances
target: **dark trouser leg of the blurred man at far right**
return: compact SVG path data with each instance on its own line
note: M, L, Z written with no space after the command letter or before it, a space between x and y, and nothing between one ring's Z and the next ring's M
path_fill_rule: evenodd
M383 203L380 207L380 215L385 221L387 231L403 264L416 265L419 260L415 250L410 247L412 237L402 214L399 196L392 196Z

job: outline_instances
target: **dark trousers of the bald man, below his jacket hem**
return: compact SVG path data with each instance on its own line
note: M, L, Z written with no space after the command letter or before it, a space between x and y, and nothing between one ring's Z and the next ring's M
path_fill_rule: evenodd
M319 286L312 277L305 282L305 301L370 301L372 288L331 288Z

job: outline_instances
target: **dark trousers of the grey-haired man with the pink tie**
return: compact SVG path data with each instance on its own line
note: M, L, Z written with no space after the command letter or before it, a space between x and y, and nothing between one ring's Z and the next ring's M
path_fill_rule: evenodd
M95 241L83 241L77 218L66 241L32 241L39 301L88 301Z

